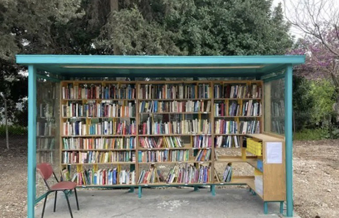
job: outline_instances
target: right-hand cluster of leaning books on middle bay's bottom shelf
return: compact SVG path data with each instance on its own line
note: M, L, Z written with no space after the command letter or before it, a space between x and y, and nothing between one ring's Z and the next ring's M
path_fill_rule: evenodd
M211 166L196 167L185 164L174 165L167 175L166 183L210 183L212 179Z

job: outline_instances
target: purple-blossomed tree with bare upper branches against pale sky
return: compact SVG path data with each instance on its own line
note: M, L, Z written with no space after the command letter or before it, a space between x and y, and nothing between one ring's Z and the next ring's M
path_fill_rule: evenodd
M306 37L290 54L305 54L306 63L296 69L307 78L330 78L336 87L333 109L339 120L339 4L338 0L284 0L287 20Z

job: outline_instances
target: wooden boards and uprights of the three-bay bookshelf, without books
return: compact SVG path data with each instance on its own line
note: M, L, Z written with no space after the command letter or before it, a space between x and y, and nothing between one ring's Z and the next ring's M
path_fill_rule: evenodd
M85 105L88 103L88 101L93 101L96 102L97 107L100 107L99 105L101 104L102 101L112 101L114 104L122 104L122 105L127 105L129 102L134 105L135 108L135 116L123 116L123 117L106 117L106 116L60 116L60 166L61 167L72 167L72 166L77 166L77 170L82 169L82 166L86 167L93 167L93 169L98 169L97 165L100 166L108 166L108 165L118 165L118 169L121 168L121 165L123 166L128 166L130 165L130 170L135 171L135 181L133 181L133 184L115 184L115 185L79 185L79 187L147 187L147 186L196 186L196 185L228 185L228 184L247 184L249 187L251 187L253 190L255 190L255 185L254 185L254 176L232 176L230 182L218 182L216 181L215 177L215 164L223 164L226 166L227 163L236 163L236 162L242 162L242 163L247 163L250 166L252 166L254 169L258 170L257 167L257 160L261 159L261 156L247 156L247 151L246 148L243 148L242 142L244 137L253 137L250 136L251 133L257 133L257 134L262 134L263 133L263 83L261 80L239 80L239 81L62 81L61 82L61 87L67 88L71 87L68 84L72 84L72 87L79 86L81 87L90 87L91 84L100 86L100 89L105 89L106 87L117 87L117 88L126 88L130 86L132 89L135 89L134 95L131 96L131 98L115 98L111 96L103 96L106 94L101 94L101 96L98 95L98 98L84 98L82 97L73 97L73 98L63 98L64 94L63 92L64 89L61 88L60 92L60 108L62 109L62 106L70 104L71 102L77 102L76 104L79 105L79 107ZM85 86L87 84L87 86ZM225 87L229 87L231 85L242 85L247 88L252 88L253 84L257 85L258 90L261 89L260 96L254 96L254 97L249 97L249 96L237 96L237 97L225 97L225 96L216 96L215 92L215 87L220 85L222 89L225 89ZM167 97L154 97L154 96L147 96L147 97L142 97L145 90L142 90L143 87L160 87L160 85L168 85L169 87L174 87L173 89L181 89L177 88L176 86L181 86L184 87L183 89L187 87L187 90L191 89L192 93L194 95L198 95L198 92L200 90L204 90L204 93L200 93L201 95L208 95L206 97L198 97L198 96L193 96L192 98L187 98L187 97L178 97L178 96L167 96ZM187 85L187 86L186 86ZM205 87L204 87L205 86ZM244 88L245 89L245 88ZM159 90L155 91L150 89L151 92L158 92ZM183 91L184 92L184 91ZM185 91L186 92L186 91ZM189 93L187 91L187 93ZM97 93L96 93L97 94ZM111 93L109 93L110 95ZM146 93L145 93L146 94ZM149 93L147 93L149 94ZM165 95L162 93L162 95ZM185 94L184 94L185 95ZM148 104L152 104L152 102L156 101L161 104L171 104L174 101L175 102L180 102L180 103L187 103L187 101L193 101L194 104L195 102L200 102L200 106L202 107L203 102L203 107L206 107L208 102L210 102L210 108L208 111L200 111L200 110L205 110L205 108L200 108L198 111L197 109L194 108L194 111L185 111L183 112L171 112L170 109L165 108L165 111L139 111L139 107L142 105L143 102L148 102ZM236 115L230 115L230 107L231 104L235 102L237 105L236 107L239 107L236 111ZM223 103L224 108L223 108L223 113L224 115L218 115L216 114L215 111L215 103ZM260 114L251 114L251 115L244 115L243 113L243 107L246 107L245 104L254 104L257 103L258 107L260 105L260 108L257 110L260 110ZM198 103L197 103L198 105ZM153 106L152 106L153 107ZM154 106L155 107L155 106ZM156 106L158 107L158 105ZM194 105L194 107L196 107ZM252 105L251 105L252 107ZM207 109L207 108L206 108ZM217 111L219 113L219 111ZM247 111L245 111L247 112ZM259 113L259 112L258 112ZM190 117L188 117L190 116ZM143 125L145 121L147 121L148 118L152 120L154 123L154 120L158 119L166 119L166 122L172 122L175 119L178 120L178 122L181 121L190 121L189 119L197 119L199 122L199 131L196 131L195 133L192 132L183 132L181 131L180 133L161 133L161 134L144 134L140 133L140 125ZM86 128L89 128L89 125L91 123L91 120L93 119L98 119L98 120L105 120L105 119L112 119L112 120L118 120L118 121L125 121L129 120L129 122L135 121L135 132L136 134L125 134L125 135L120 135L120 134L86 134L86 135L67 135L64 134L64 129L63 129L63 123L67 122L71 119L75 120L83 120L84 124L86 125ZM182 119L182 120L180 120ZM210 132L205 133L201 132L201 127L202 127L202 120L207 120L208 124L210 125ZM224 120L226 121L234 121L235 124L237 125L237 131L236 133L216 133L215 132L215 124L217 120ZM240 124L241 122L247 122L247 121L256 121L259 122L258 128L256 131L246 131L246 133L241 133L240 131ZM248 124L248 123L247 123ZM250 129L257 128L251 127ZM152 132L152 131L151 131ZM142 138L154 138L154 139L159 139L163 138L166 139L166 137L179 137L181 140L185 140L185 143L183 142L183 147L154 147L154 148L145 148L142 147L140 144L140 137ZM211 138L211 146L210 147L194 147L194 138L195 137L206 137L206 139ZM215 140L217 137L231 137L231 140L234 139L234 137L237 137L237 144L238 147L234 147L234 143L232 142L231 147L216 147L217 144L215 144ZM115 138L135 138L135 144L134 148L110 148L110 149L64 149L63 148L63 139L64 138L76 138L76 139L115 139ZM163 142L164 143L164 142ZM221 150L221 149L237 149L241 151L241 156L219 156L216 151ZM189 151L189 159L186 161L140 161L140 154L143 154L142 152L164 152L167 151L169 152L180 152L180 151ZM210 151L210 158L209 160L206 161L197 161L196 160L196 155L200 151ZM107 162L107 163L62 163L62 152L135 152L135 161L126 161L126 162ZM141 153L140 153L141 152ZM215 155L218 155L217 158ZM192 166L195 166L196 168L199 168L200 165L204 166L209 166L210 167L210 172L212 176L212 180L208 181L206 183L161 183L161 182L156 182L156 183L140 183L138 184L139 181L139 176L141 173L141 169L147 168L149 165L181 165L181 164L189 164ZM219 174L222 174L222 172L216 172ZM166 175L163 175L166 176Z

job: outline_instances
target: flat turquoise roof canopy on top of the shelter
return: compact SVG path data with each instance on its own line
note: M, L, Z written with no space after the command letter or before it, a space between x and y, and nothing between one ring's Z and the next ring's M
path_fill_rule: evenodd
M65 77L261 77L305 56L16 55L16 62Z

